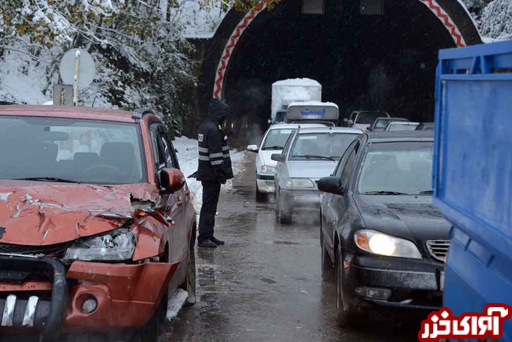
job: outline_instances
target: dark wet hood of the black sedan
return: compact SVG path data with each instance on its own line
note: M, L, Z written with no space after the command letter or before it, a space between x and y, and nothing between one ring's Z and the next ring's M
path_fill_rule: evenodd
M451 228L431 196L354 195L368 229L415 241L426 253L428 240L448 240Z

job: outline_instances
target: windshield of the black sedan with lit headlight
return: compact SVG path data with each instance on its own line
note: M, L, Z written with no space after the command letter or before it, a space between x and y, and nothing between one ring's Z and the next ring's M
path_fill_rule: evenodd
M432 195L432 159L432 142L371 144L359 177L359 193Z

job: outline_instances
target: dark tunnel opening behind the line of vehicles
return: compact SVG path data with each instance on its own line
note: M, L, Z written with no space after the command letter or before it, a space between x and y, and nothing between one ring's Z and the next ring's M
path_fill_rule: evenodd
M457 3L449 1L446 6ZM324 15L308 15L301 1L286 0L253 19L249 13L250 25L243 33L233 30L229 56L217 69L214 95L232 112L226 129L257 140L271 116L272 83L297 77L319 81L323 100L338 104L342 118L353 110L380 110L433 121L437 52L480 42L470 16L463 11L466 35L457 39L461 25L442 17L453 8L436 15L421 0L386 0L384 14L362 15L359 6L359 0L326 0Z

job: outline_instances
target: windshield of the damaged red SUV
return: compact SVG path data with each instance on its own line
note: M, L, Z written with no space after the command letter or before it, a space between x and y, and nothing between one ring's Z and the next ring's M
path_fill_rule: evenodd
M0 178L95 184L146 181L137 124L0 117Z

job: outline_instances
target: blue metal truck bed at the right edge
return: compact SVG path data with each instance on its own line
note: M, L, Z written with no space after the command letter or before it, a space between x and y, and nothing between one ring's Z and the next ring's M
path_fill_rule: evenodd
M453 224L444 304L512 305L512 40L441 50L436 100L434 204Z

